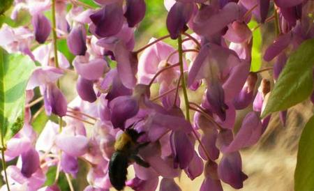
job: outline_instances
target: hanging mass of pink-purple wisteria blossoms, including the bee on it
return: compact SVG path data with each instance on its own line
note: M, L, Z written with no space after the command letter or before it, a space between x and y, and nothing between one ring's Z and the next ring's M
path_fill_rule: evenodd
M79 160L89 164L85 191L150 191L158 185L181 190L174 181L181 173L191 180L204 174L202 191L223 190L221 181L242 188L248 176L239 150L256 144L271 118L260 115L273 79L262 79L260 72L272 70L276 82L287 54L314 37L311 1L165 0L170 34L140 49L134 34L145 17L145 1L94 2L99 8L77 0L15 0L12 19L27 10L32 26L0 29L1 47L38 63L27 85L24 126L4 153L6 161L18 158L17 164L7 167L8 185L1 190L60 190L57 181L45 185L47 171L57 167L56 180L62 172L70 183ZM52 21L47 10L54 13ZM251 20L276 24L276 39L262 53L264 61L274 60L271 68L251 70ZM75 55L72 63L57 49L61 38ZM59 79L72 66L77 98L70 101ZM158 84L156 98L152 84ZM38 87L42 97L36 100ZM202 93L201 102L189 100L192 91ZM60 121L48 121L37 135L31 107L41 100L40 111ZM234 133L237 110L248 107ZM280 115L284 124L287 111ZM126 181L130 165L135 175Z

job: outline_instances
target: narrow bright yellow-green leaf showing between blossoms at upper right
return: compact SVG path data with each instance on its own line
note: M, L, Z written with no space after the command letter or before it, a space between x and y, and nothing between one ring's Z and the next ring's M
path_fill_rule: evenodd
M258 26L255 20L251 20L248 23L250 29L254 29ZM256 72L260 70L262 66L262 33L260 32L260 27L253 31L253 45L252 45L252 62L251 62L251 72Z

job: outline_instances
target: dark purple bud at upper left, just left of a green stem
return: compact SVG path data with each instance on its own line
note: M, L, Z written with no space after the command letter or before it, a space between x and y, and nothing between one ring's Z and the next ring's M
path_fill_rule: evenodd
M33 15L31 22L33 24L36 41L40 44L45 43L51 32L50 21L45 15L38 13Z

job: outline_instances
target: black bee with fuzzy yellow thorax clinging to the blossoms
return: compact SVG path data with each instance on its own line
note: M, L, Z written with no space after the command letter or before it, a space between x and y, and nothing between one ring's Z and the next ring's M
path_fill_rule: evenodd
M149 167L149 163L140 158L137 153L143 146L147 146L148 142L139 144L137 139L144 132L137 132L132 128L128 128L117 139L114 144L115 152L109 162L109 178L112 186L117 190L123 190L126 186L127 168L131 162L136 162L142 167Z

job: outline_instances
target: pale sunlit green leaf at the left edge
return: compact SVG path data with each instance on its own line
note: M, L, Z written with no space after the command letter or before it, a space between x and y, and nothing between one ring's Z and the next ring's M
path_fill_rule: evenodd
M23 126L25 88L34 68L29 56L0 48L0 128L5 141Z

